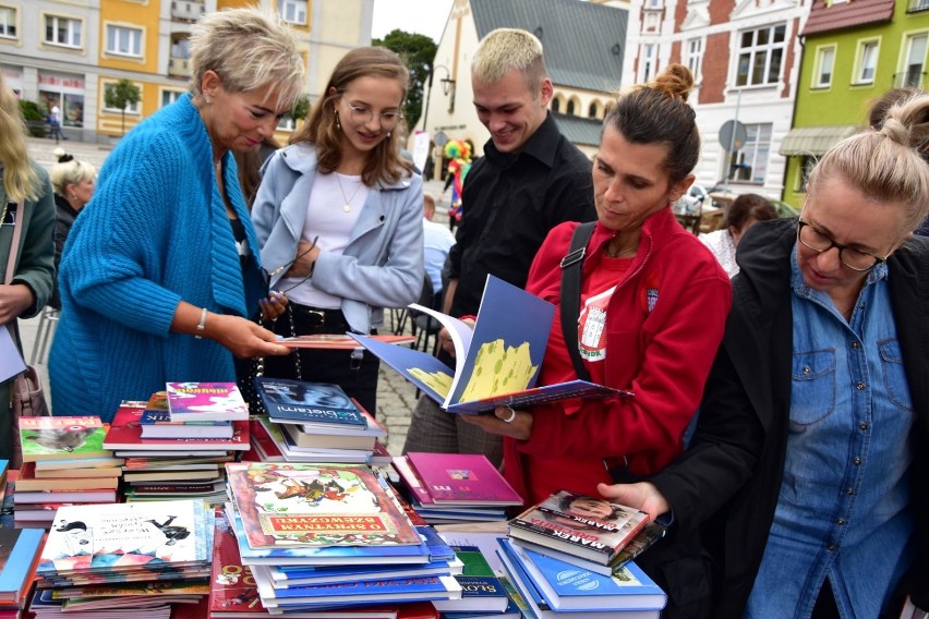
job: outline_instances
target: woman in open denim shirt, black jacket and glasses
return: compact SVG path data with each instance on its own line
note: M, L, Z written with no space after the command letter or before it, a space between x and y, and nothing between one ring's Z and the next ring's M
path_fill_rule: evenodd
M702 529L715 617L929 609L927 138L922 94L823 156L799 221L752 227L693 442L600 488Z

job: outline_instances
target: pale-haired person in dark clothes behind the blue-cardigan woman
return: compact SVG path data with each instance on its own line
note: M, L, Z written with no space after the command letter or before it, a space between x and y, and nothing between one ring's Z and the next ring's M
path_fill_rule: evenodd
M58 271L64 241L68 240L74 219L94 197L97 169L92 163L79 161L63 148L56 148L52 155L58 159L51 168L51 186L55 187L55 269ZM61 310L57 277L48 305Z

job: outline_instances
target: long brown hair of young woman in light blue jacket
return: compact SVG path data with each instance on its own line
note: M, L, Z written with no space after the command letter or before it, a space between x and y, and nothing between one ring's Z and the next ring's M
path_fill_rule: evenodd
M325 96L316 101L310 118L290 136L289 142L309 142L316 146L319 169L324 172L337 170L342 161L339 123L343 121L338 120L336 102L349 84L359 77L396 80L402 90L401 105L410 88L410 72L400 57L386 47L359 47L345 54L333 70ZM395 128L369 153L361 173L365 185L372 186L376 181L396 183L412 171L412 163L400 157L399 133Z

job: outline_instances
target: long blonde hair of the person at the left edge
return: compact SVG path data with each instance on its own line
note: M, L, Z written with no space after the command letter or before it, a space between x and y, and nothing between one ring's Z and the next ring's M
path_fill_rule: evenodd
M32 166L26 146L26 123L20 101L0 75L0 166L7 199L38 199L41 183Z

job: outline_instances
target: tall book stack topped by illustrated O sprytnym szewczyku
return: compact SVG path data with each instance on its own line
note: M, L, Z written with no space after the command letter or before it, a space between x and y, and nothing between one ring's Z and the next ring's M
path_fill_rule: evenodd
M238 558L269 612L461 597L455 554L369 466L229 463L227 473Z

